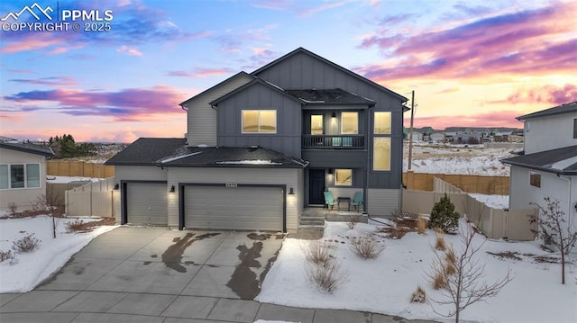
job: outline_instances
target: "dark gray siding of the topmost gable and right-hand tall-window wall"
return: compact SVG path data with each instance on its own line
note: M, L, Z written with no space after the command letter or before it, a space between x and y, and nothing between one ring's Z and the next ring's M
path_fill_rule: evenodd
M343 70L328 65L324 61L311 57L303 52L297 53L278 62L257 76L279 85L284 89L333 89L342 88L353 94L358 94L375 101L371 111L391 112L391 162L389 172L370 171L369 187L398 189L402 182L403 156L403 108L400 99L383 90L377 85L371 85L362 79L353 77ZM371 118L372 119L372 118ZM362 122L362 119L360 118ZM368 127L372 129L372 124ZM372 146L371 132L368 145ZM370 149L372 168L372 151Z

